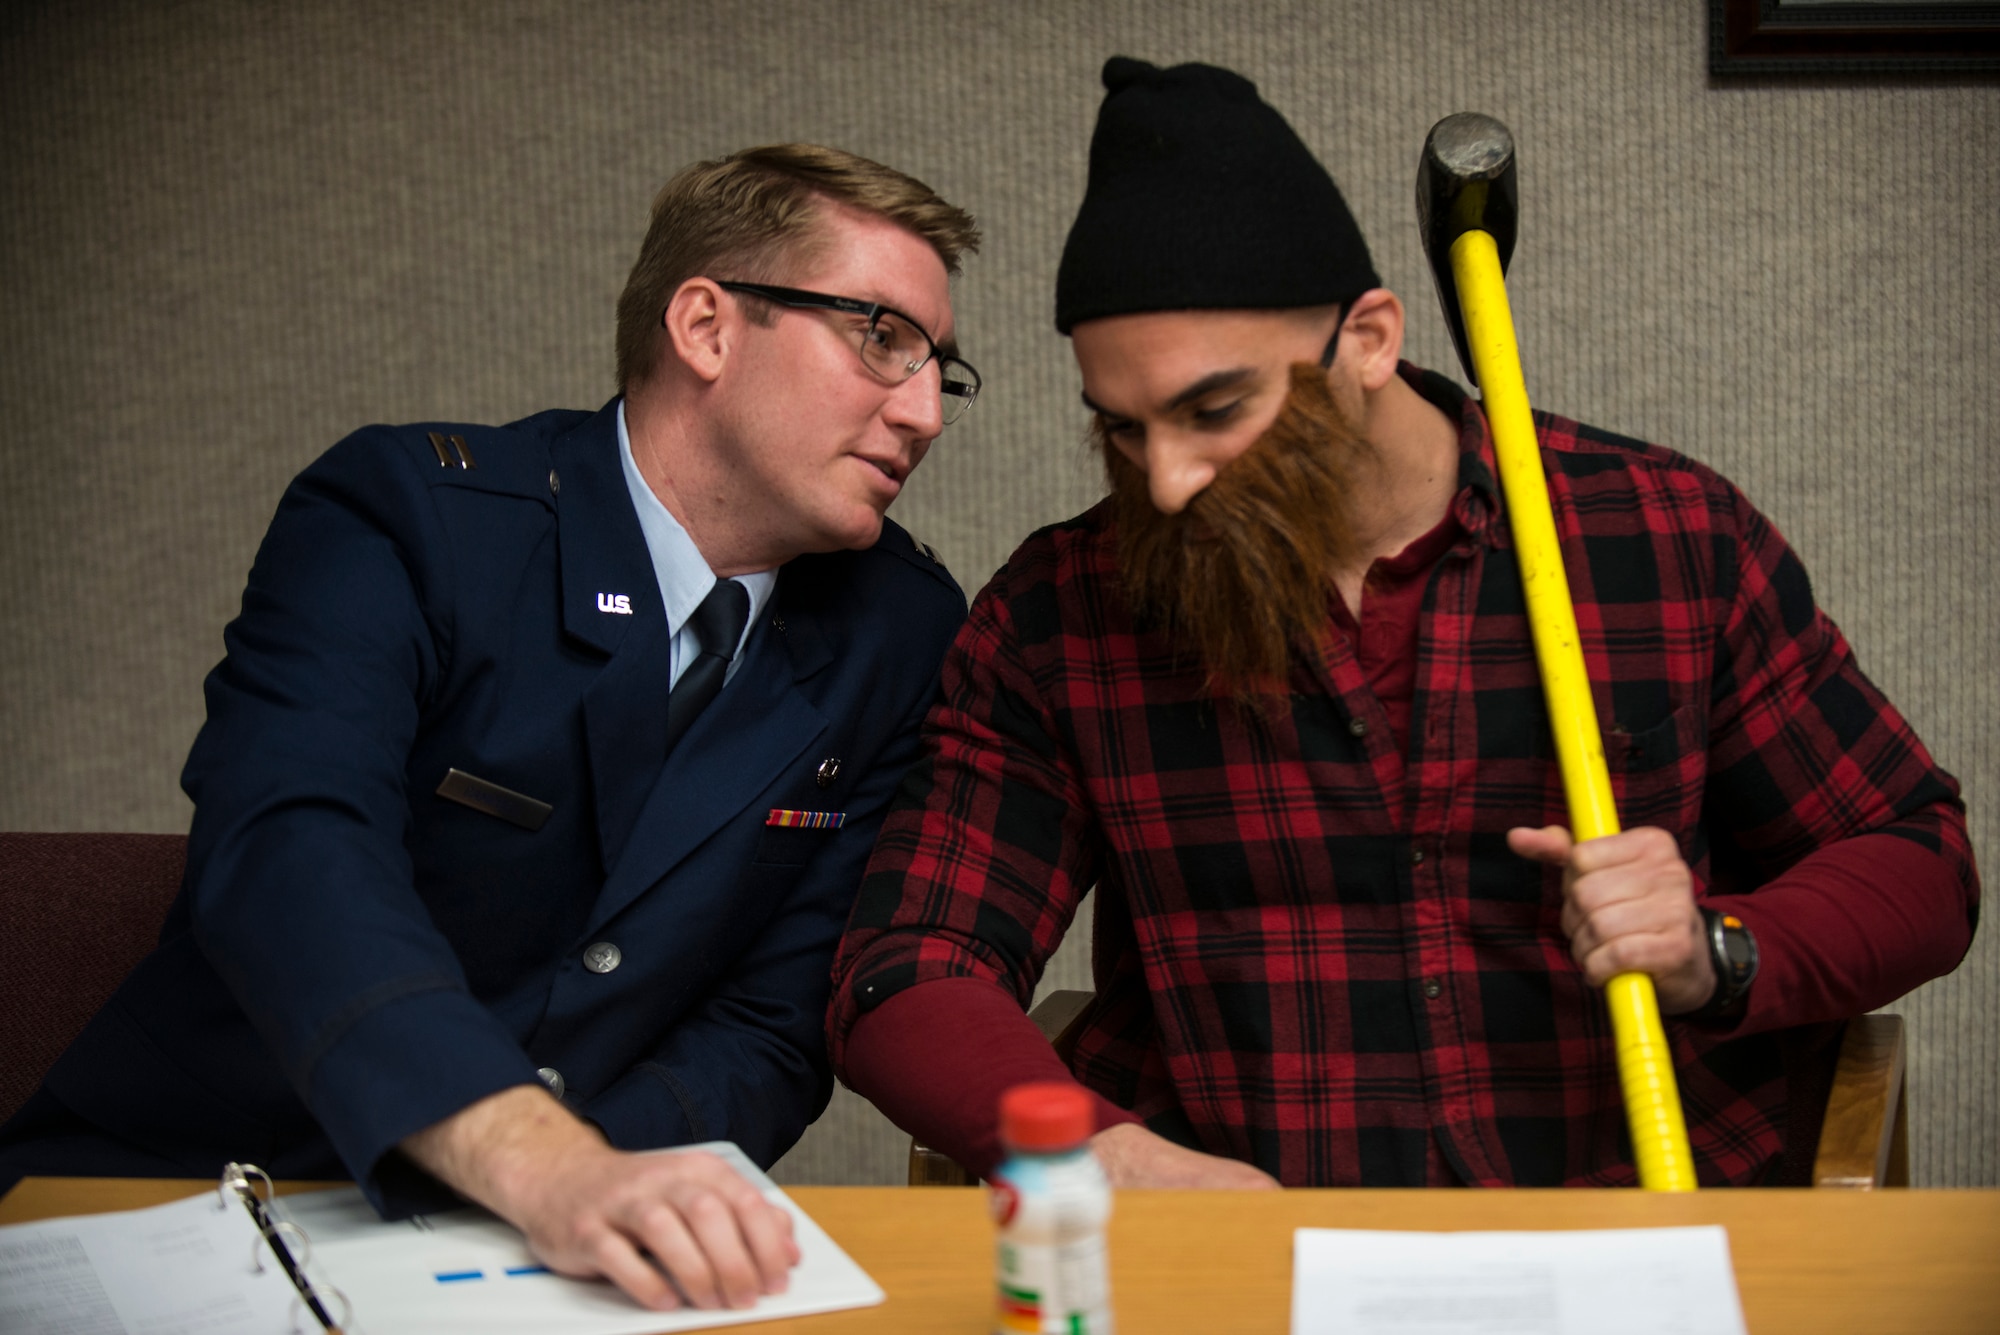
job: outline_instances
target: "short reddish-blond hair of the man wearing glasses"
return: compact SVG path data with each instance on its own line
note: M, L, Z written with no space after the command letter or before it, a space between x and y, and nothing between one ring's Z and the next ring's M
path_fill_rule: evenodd
M824 250L826 202L914 232L948 274L980 248L972 214L912 176L838 148L768 144L696 162L654 198L652 224L618 298L618 388L652 376L660 316L680 284L700 276L782 282Z

